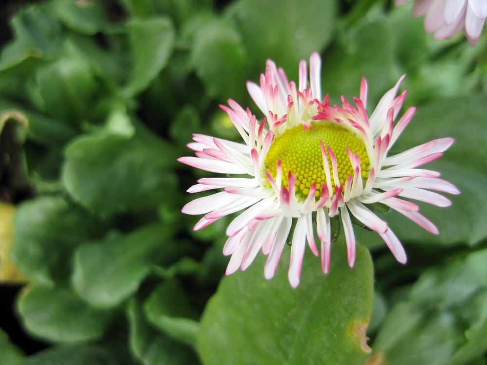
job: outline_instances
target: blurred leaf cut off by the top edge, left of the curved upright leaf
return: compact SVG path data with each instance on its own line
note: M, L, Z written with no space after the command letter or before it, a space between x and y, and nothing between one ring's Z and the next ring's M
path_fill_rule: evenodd
M110 21L100 1L54 0L49 10L75 32L93 36L110 29Z

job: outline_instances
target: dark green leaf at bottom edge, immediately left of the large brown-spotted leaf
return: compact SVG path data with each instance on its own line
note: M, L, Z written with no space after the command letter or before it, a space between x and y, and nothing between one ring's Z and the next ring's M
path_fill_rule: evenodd
M144 365L198 365L194 351L151 327L140 305L131 300L127 309L130 324L130 347Z

